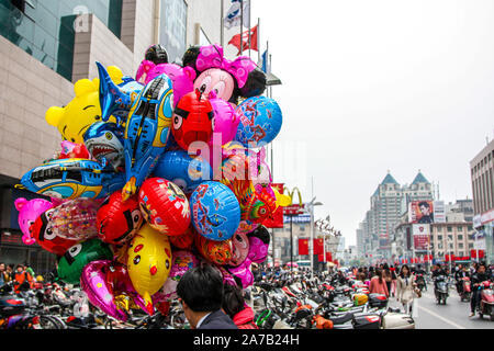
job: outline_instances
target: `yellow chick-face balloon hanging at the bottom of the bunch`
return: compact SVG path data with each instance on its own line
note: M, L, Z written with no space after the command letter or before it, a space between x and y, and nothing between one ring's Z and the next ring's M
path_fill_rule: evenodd
M151 295L161 288L171 269L172 258L168 237L145 224L132 239L127 254L127 270L132 285L144 298L146 310L153 314Z

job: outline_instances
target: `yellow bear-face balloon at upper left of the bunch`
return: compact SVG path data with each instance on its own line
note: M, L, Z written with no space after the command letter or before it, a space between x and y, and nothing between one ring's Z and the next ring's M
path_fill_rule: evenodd
M115 66L108 67L115 84L123 82L123 73ZM82 144L86 131L96 122L101 122L99 79L81 79L74 86L76 97L66 106L52 106L45 118L49 125L58 128L64 140ZM115 122L114 117L109 120Z

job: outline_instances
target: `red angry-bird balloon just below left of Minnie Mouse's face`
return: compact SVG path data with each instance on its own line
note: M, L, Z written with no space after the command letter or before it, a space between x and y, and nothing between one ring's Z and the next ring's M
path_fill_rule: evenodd
M173 111L171 134L184 150L193 141L207 143L213 134L214 112L211 102L199 90L183 95Z

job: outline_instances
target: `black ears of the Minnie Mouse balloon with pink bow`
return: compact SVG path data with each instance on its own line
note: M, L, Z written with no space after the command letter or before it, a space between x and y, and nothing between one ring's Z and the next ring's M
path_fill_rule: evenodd
M198 77L201 75L201 71L198 70L198 67L195 66L195 61L198 59L198 56L201 52L201 46L194 45L190 46L187 52L182 56L182 65L183 67L189 66L192 67ZM239 88L238 82L236 79L234 79L235 88L232 93L232 98L228 100L228 102L238 104L239 98L251 98L260 95L266 90L267 84L267 78L266 73L256 67L254 70L249 72L249 76L247 78L247 81L245 82L244 87Z

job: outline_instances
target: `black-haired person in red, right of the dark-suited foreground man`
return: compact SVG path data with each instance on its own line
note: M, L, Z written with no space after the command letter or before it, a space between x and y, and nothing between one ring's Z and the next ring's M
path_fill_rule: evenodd
M259 329L254 322L254 310L246 305L238 286L225 284L222 307L238 329Z

